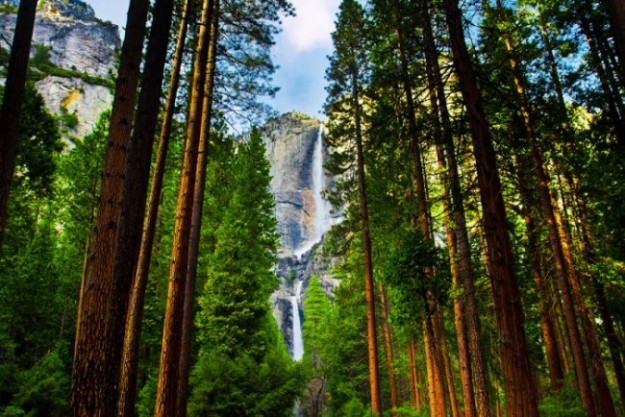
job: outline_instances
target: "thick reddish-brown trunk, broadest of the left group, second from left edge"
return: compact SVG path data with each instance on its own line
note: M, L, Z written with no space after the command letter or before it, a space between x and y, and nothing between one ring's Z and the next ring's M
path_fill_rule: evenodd
M117 405L113 393L119 378L119 355L115 358L109 358L109 355L111 347L118 343L112 340L113 335L107 330L113 324L109 315L114 299L120 296L113 293L118 288L114 283L117 235L149 3L147 0L132 0L128 8L98 216L78 313L80 322L70 392L70 415L73 417L109 417L115 414ZM121 323L117 325L123 326Z

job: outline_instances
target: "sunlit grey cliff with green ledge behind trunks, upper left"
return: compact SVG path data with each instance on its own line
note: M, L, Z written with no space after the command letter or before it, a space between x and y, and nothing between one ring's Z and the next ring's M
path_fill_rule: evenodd
M3 6L16 4L19 1L0 0ZM0 15L0 47L10 49L16 20L14 14ZM62 76L39 80L36 86L50 112L60 114L64 108L76 115L78 124L70 135L84 136L110 107L113 95L106 85L114 79L119 47L117 26L97 20L88 4L78 0L40 2L33 54L35 50L47 53L49 62L65 71Z

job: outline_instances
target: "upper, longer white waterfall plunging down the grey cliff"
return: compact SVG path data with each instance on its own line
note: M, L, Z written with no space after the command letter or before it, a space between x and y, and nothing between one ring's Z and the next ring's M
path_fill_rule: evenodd
M302 255L309 252L313 246L321 242L323 235L332 226L330 203L323 198L323 190L325 188L325 172L323 170L323 124L319 125L319 132L317 134L317 140L315 141L311 174L311 191L315 203L315 234L293 251L298 259L301 259Z

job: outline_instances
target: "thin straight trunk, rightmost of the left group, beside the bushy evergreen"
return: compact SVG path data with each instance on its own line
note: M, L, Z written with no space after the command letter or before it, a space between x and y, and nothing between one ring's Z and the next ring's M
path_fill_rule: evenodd
M189 396L189 371L191 369L191 335L193 330L193 309L195 282L197 278L198 253L200 251L200 230L204 208L204 188L206 182L206 164L213 109L213 88L217 64L217 38L219 30L219 0L212 0L213 10L210 22L210 45L206 66L206 83L204 86L204 103L202 105L202 126L198 146L197 171L193 189L193 211L189 235L189 259L185 280L184 309L182 319L182 337L180 345L180 368L178 375L178 410L177 417L186 417L187 398Z

